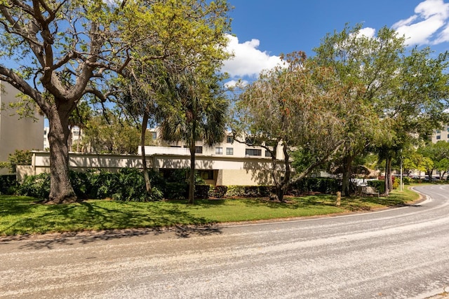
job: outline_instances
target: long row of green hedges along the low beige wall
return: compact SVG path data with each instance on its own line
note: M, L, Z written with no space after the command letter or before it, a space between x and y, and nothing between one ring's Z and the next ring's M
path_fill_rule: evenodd
M70 180L76 196L86 198L112 198L123 201L152 201L166 198L182 200L188 197L189 184L181 176L177 182L168 182L158 172L149 172L152 193L147 193L145 180L139 169L123 168L119 172L89 170L87 172L70 172ZM173 178L172 178L173 179ZM14 180L15 181L15 180ZM289 194L300 195L307 192L335 193L340 188L340 181L327 178L305 178L294 183ZM273 186L215 186L195 185L195 198L208 197L268 197L274 193ZM48 198L50 193L50 175L39 174L27 176L18 186L18 195L36 198Z

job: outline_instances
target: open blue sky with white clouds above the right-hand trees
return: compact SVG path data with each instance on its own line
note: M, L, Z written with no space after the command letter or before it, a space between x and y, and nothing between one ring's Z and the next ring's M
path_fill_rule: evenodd
M409 48L449 50L449 0L228 0L234 9L228 50L233 60L222 71L233 85L253 81L262 69L281 61L279 55L302 50L313 56L326 34L345 24L363 25L363 33L382 27L406 36Z

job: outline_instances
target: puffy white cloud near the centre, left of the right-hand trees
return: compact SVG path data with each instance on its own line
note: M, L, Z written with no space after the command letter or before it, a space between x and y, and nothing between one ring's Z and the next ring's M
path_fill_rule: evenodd
M255 77L264 69L272 69L281 64L279 56L269 55L266 51L258 50L260 42L257 39L239 43L236 36L228 35L227 50L234 53L231 60L225 61L222 71L227 72L232 78L244 76Z

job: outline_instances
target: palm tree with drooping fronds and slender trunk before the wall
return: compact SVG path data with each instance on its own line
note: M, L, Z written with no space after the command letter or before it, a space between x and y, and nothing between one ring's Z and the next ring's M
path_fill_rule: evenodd
M198 74L184 71L170 76L170 97L163 103L160 116L161 139L184 141L190 151L189 204L195 194L196 141L206 146L220 143L226 134L226 113L229 102L220 87L220 77L215 74Z

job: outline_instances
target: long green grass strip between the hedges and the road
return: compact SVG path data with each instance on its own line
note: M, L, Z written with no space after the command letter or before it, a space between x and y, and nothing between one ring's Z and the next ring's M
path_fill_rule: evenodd
M417 193L405 190L389 197L342 198L340 207L335 206L335 195L288 197L286 203L256 199L196 200L194 205L180 200L87 200L48 205L36 203L32 197L0 195L0 236L317 216L400 206L417 198Z

